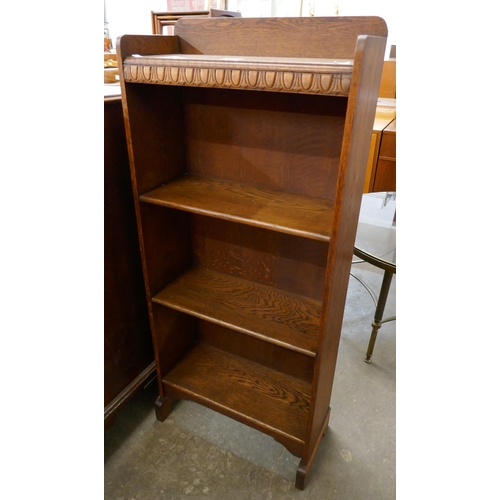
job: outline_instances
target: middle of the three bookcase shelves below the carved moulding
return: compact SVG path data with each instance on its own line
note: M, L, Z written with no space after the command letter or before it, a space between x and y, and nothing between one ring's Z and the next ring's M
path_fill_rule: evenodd
M314 357L321 302L193 268L153 302Z

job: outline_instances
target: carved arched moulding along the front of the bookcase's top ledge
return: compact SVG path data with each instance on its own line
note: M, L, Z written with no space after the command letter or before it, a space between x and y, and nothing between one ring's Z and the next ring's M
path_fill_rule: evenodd
M311 65L267 60L259 64L217 56L206 56L205 60L171 57L127 58L123 67L125 81L339 96L349 94L351 83L352 61Z

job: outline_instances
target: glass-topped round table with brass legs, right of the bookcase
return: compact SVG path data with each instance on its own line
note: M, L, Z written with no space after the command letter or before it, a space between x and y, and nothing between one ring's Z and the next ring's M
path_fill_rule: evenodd
M383 319L392 275L396 274L395 192L367 193L363 195L356 241L354 243L354 255L362 261L384 270L378 298L365 283L351 273L370 292L377 305L365 358L365 361L370 363L378 330L383 323L396 319L395 316Z

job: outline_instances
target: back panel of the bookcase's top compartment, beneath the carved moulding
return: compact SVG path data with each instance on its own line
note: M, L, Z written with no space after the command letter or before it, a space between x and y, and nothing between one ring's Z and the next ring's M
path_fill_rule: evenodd
M186 88L190 173L332 199L347 99Z

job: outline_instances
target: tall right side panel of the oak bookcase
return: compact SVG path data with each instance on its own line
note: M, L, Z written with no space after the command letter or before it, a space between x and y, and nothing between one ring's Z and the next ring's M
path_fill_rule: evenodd
M315 367L311 405L314 410L309 421L306 460L314 453L325 415L329 412L385 44L386 38L361 36L356 47L328 255L323 328Z

